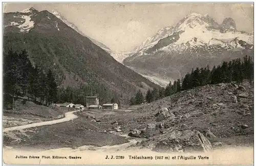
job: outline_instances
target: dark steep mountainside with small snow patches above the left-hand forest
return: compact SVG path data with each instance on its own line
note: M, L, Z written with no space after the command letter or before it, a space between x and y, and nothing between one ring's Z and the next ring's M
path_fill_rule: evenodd
M158 87L46 10L4 13L3 41L4 51L26 49L33 65L51 68L60 86L94 83L123 102L139 89Z

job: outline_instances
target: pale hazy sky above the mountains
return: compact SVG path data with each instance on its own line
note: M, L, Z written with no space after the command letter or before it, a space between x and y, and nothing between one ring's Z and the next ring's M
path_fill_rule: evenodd
M218 23L226 17L236 22L239 31L253 32L253 4L217 3L16 3L4 4L4 12L56 10L80 31L113 51L129 51L165 26L176 26L189 13L208 14Z

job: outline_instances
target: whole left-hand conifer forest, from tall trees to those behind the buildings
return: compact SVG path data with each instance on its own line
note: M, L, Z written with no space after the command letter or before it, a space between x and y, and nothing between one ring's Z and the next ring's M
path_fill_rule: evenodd
M13 109L19 97L37 104L49 106L51 103L72 102L86 104L86 96L100 95L100 103L117 102L119 96L108 93L100 84L83 84L80 87L60 86L57 75L51 69L44 70L32 65L26 50L4 51L3 90L4 108Z

